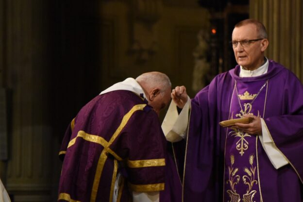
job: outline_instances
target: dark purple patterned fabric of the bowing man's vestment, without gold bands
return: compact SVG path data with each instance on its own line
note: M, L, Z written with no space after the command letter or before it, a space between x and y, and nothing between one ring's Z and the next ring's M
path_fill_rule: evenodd
M110 193L113 191L115 161L118 163L118 171L121 171L124 180L121 202L129 201L132 198L128 183L133 185L165 183L165 166L130 168L127 164L128 160L166 158L166 140L157 114L151 106L146 105L141 110L134 111L114 141L108 146L105 145L113 138L122 118L138 104L146 105L147 102L131 91L117 90L98 95L80 110L75 118L74 128L67 129L62 142L61 151L66 151L66 154L61 155L64 161L59 183L59 195L66 193L72 200L89 202L92 198L96 173L101 172L100 180L95 186L97 187L96 201L108 202ZM79 131L95 135L88 136L102 140L103 143L95 143L92 139L87 140L84 137L79 137ZM70 140L77 135L74 144L67 148ZM101 153L105 147L108 149L105 152L102 170L97 170L98 162L99 164L102 162L100 160ZM120 158L119 161L117 158ZM121 187L122 185L120 185ZM154 188L151 191L160 190Z

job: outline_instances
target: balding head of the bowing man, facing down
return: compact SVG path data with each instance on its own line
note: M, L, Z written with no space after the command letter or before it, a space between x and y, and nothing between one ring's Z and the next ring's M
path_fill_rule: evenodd
M152 71L141 74L136 79L146 94L149 105L158 114L170 101L171 83L166 74Z

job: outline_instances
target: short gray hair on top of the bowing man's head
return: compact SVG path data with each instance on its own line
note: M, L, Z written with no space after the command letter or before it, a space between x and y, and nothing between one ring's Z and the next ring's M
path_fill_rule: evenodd
M160 93L163 94L171 88L171 83L168 76L158 71L143 73L135 79L138 83L145 83L150 88L160 88Z

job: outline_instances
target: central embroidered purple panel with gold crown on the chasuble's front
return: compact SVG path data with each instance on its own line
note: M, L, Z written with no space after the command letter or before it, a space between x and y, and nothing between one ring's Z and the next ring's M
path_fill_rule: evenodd
M230 106L230 118L242 118L253 114L263 118L269 80L251 83L235 82ZM256 135L249 135L229 128L226 134L224 200L230 202L260 201L257 141Z

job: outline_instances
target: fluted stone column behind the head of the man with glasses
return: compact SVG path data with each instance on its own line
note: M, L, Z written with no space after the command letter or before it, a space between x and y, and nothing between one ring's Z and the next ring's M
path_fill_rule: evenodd
M250 0L250 17L264 23L269 34L267 56L303 81L303 1Z

